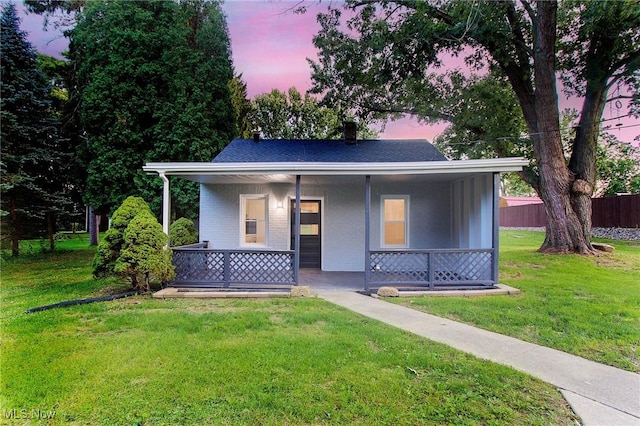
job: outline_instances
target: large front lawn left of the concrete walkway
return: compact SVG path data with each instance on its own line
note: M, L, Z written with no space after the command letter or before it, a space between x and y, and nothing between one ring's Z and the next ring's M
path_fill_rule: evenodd
M550 385L320 299L136 296L25 314L124 289L91 278L86 242L61 245L3 262L0 422L574 424Z

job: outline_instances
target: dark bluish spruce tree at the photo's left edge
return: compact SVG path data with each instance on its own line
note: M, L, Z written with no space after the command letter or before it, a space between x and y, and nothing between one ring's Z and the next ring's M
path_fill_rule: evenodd
M20 29L13 4L2 9L1 95L2 210L14 256L21 239L48 235L54 248L55 215L67 200L56 164L62 153L52 111L51 87L37 65L38 54Z

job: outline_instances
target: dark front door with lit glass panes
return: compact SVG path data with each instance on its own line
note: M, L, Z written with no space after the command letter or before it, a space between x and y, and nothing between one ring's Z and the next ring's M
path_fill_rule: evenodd
M295 250L296 201L291 200L291 250ZM320 200L300 201L300 267L321 267Z

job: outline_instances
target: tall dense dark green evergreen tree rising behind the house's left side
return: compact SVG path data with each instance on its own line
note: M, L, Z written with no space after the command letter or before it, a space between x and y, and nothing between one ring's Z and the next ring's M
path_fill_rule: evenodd
M143 195L158 213L148 161L210 161L235 134L229 38L216 1L87 2L70 33L86 137L85 200L110 211ZM198 188L172 185L177 216Z

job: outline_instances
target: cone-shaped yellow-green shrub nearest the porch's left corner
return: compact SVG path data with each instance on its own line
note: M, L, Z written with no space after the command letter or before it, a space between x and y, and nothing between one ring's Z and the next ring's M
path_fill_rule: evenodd
M129 222L123 240L114 271L129 279L134 288L149 292L152 280L174 277L172 253L165 249L167 236L150 211L141 211Z

